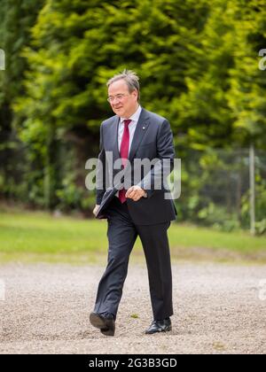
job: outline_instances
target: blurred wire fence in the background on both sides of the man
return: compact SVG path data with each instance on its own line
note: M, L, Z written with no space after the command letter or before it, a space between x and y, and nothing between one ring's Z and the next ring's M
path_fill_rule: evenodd
M56 175L61 184L54 190L49 187L49 198L54 202L47 203L45 169L39 163L22 161L25 159L22 150L18 144L15 151L5 153L5 158L4 153L0 156L0 198L41 208L51 205L50 209L62 208L66 212L73 209L90 212L95 196L84 186L85 161L79 161L77 167L76 161L72 161L74 154L69 157L68 148L63 151L62 147L63 152L57 152ZM60 157L61 152L64 156ZM182 160L181 196L176 199L179 221L226 230L250 229L252 234L266 233L265 151L252 147L208 151L176 148L176 157ZM81 173L78 177L77 170Z

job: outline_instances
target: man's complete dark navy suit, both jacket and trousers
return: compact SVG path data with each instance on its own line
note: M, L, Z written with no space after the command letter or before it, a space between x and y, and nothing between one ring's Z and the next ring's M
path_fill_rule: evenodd
M97 204L113 188L113 179L119 169L113 169L115 160L120 159L118 149L118 125L120 118L115 115L105 120L100 129L100 153L98 159L104 166L104 174L99 175ZM109 155L112 154L110 158ZM152 170L139 169L134 159L158 159ZM147 193L147 198L138 201L128 198L121 204L113 196L106 206L108 221L108 263L106 272L98 285L94 311L98 314L117 314L122 287L127 276L129 254L140 237L148 269L153 319L165 319L173 314L172 275L167 230L170 221L176 219L176 208L172 199L166 199L168 191L165 177L171 172L175 158L172 131L168 120L142 109L129 151L132 166L125 177L131 184L139 184ZM163 159L168 159L165 167ZM138 167L138 169L137 169ZM138 172L137 172L138 171ZM138 178L136 177L138 174ZM135 179L134 179L135 176ZM158 180L163 178L159 184ZM136 182L137 180L137 182ZM115 185L114 185L115 186ZM125 187L126 188L126 187ZM127 189L127 188L126 188ZM107 190L107 191L106 191Z

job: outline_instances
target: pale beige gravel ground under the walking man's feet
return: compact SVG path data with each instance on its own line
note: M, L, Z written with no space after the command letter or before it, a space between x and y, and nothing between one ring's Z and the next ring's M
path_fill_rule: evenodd
M265 266L173 265L173 330L148 336L144 330L152 312L146 269L131 264L114 337L101 335L89 322L103 270L0 267L0 283L5 284L0 353L266 352Z

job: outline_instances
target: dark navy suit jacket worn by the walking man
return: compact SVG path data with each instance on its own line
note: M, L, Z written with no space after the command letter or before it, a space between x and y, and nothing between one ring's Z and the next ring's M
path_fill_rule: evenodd
M123 185L125 189L129 189L130 184L128 187L123 184L127 179L130 180L131 185L138 184L147 192L147 198L140 198L137 202L130 198L127 199L129 214L135 224L154 225L176 220L174 202L171 198L165 198L168 186L164 180L172 171L175 159L173 135L168 120L156 113L142 109L129 151L131 168L125 172L124 177L120 177L121 182L117 183L115 178L121 172L121 167L113 169L113 165L116 160L120 162L119 120L120 118L114 115L103 121L100 128L100 152L98 155L100 164L97 169L97 204L100 205L100 209L97 217L107 217L108 205L112 198L116 198L114 196L116 191ZM145 167L140 167L139 163L137 165L136 159L156 160L152 169L147 170ZM170 166L165 166L163 159L168 159ZM162 188L156 190L159 180Z

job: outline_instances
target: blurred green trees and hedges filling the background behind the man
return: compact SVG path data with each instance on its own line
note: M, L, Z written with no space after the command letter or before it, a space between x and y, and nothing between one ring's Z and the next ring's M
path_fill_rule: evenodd
M3 0L1 194L51 209L91 209L84 164L98 153L101 120L113 114L106 80L130 68L141 77L141 104L170 120L184 159L180 218L247 226L247 199L239 199L236 216L230 200L202 190L211 182L223 187L218 167L223 176L233 171L209 149L254 143L266 150L266 73L258 68L265 19L263 0ZM199 151L197 162L187 161L191 150ZM258 184L263 221L265 183Z

